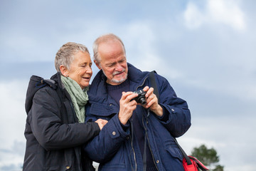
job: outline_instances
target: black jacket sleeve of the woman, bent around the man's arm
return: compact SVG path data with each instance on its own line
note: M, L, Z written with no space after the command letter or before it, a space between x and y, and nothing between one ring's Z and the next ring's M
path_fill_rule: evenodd
M53 98L55 97L55 98ZM100 132L97 123L61 123L60 101L52 88L38 90L28 113L31 130L46 150L82 145Z

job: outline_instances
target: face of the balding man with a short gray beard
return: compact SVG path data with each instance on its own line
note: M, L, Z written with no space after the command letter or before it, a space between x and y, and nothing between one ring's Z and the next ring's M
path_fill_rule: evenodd
M107 83L119 85L127 79L127 60L119 41L100 43L98 53L101 57L100 63L95 61L96 66L102 69L107 77Z

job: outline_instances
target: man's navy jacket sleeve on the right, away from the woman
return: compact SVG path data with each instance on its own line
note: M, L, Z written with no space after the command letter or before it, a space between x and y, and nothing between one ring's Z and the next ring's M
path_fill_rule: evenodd
M159 88L159 104L167 120L160 121L174 137L180 137L191 126L191 113L185 100L178 98L166 78L155 75Z

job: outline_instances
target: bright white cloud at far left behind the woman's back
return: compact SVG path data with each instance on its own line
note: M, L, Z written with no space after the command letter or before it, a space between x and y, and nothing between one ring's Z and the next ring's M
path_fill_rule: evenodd
M25 142L25 81L0 82L0 147L11 149L14 141Z

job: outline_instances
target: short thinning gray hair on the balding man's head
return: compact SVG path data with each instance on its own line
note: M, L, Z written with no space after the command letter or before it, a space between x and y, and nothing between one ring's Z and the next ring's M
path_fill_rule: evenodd
M99 45L100 43L106 43L107 41L119 41L120 43L122 43L122 46L124 48L124 43L122 42L121 38L119 38L118 36L114 35L113 33L107 33L107 34L104 34L100 37L98 37L95 42L93 43L93 59L95 61L97 61L97 63L100 63L100 54L98 52L98 48L99 48ZM125 48L124 48L124 54L125 54Z

